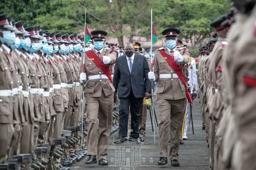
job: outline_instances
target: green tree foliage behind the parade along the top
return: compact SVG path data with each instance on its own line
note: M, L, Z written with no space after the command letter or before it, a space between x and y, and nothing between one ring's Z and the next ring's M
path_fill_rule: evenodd
M160 2L160 3L159 3ZM157 35L175 27L180 38L198 48L211 37L209 23L228 12L230 0L1 0L0 13L22 20L24 27L39 24L42 29L72 34L91 28L107 30L122 45L123 36L151 36L151 8ZM129 26L129 29L127 29ZM90 30L91 31L91 30Z

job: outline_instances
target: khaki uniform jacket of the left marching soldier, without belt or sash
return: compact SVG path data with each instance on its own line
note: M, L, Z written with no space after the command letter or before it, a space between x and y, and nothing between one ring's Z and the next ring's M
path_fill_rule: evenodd
M114 49L111 52L112 49L106 50L103 47L103 51L100 54L100 59L102 61L102 56L106 55L109 56L110 59L112 60L110 62L110 64L115 63L116 59L117 59L117 50ZM94 50L95 52L95 50ZM96 52L95 52L96 54ZM97 54L96 54L97 55ZM88 76L90 75L98 75L98 74L104 74L103 71L101 69L99 69L92 60L89 60L90 58L83 53L82 54L82 62L80 65L80 73L83 72L83 57L85 56L85 73L87 76L86 81L88 80ZM111 67L109 67L110 71L111 71ZM111 94L114 93L115 88L112 84L112 82L109 79L102 79L102 81L100 81L99 79L95 79L95 80L89 80L85 86L85 97L100 97L101 96L101 92L104 92L105 96L109 96Z

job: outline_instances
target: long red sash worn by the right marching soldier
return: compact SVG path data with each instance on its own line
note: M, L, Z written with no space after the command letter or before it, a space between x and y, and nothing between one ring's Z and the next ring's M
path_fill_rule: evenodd
M191 99L190 93L188 92L187 85L185 83L184 76L183 76L183 73L181 71L181 67L180 68L175 67L174 59L172 58L171 55L165 53L165 49L161 49L161 50L159 50L159 52L161 53L161 55L163 57L167 57L167 59L165 59L165 60L167 61L169 66L174 70L174 72L178 75L178 77L182 81L182 83L183 83L183 85L185 86L185 89L186 89L187 100L188 100L189 103L192 103L192 99Z

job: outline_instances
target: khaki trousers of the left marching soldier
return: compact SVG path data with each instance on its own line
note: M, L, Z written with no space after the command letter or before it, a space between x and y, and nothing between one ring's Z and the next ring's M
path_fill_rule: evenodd
M103 90L101 97L85 97L88 109L87 155L98 155L98 160L106 159L107 155L112 126L113 98L114 94L105 96Z

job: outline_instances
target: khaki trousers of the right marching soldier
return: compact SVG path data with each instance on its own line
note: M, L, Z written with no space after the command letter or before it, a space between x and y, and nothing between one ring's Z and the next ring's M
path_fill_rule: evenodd
M167 157L168 138L171 134L170 142L170 160L179 160L180 148L180 129L183 120L186 98L179 100L158 99L158 110L160 114L159 123L159 155L158 157ZM170 132L171 131L171 132Z

